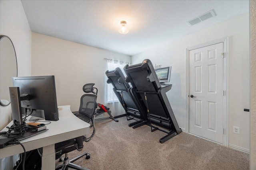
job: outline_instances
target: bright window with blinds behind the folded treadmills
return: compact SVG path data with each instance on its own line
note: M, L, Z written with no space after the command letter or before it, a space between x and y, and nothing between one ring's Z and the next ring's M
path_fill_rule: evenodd
M121 68L124 76L126 76L126 74L124 72L124 66L126 64L130 64L130 63L125 62L125 61L117 61L117 60L108 59L108 70L109 71L114 70L114 69L116 69L116 67L119 67L119 68ZM113 91L112 84L107 84L107 103L118 102L118 101L119 100Z

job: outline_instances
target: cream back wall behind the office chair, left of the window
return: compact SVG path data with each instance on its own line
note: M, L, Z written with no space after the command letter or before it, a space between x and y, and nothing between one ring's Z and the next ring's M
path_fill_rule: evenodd
M71 111L78 111L86 83L95 83L97 102L106 105L104 58L131 61L127 55L32 33L32 76L54 75L58 106L71 105ZM110 109L113 116L122 114Z

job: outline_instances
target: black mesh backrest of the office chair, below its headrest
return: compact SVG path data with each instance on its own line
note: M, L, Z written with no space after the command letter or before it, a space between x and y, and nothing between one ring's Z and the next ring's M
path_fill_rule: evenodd
M91 118L97 108L96 99L96 94L84 94L80 100L79 113Z

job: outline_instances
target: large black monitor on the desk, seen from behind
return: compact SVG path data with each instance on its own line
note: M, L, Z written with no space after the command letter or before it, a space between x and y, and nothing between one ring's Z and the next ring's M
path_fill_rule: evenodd
M21 107L40 113L37 117L58 121L54 76L13 77L12 82L13 86L19 88Z

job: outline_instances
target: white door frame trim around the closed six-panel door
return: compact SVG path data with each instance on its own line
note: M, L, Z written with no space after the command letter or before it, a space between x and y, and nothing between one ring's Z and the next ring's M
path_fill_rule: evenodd
M228 37L224 37L222 39L213 40L207 43L203 43L200 45L196 45L193 47L188 47L186 49L186 133L189 133L189 51L206 47L209 45L223 43L224 50L224 59L223 59L223 90L224 90L224 98L223 98L223 145L228 147Z

